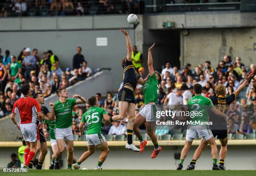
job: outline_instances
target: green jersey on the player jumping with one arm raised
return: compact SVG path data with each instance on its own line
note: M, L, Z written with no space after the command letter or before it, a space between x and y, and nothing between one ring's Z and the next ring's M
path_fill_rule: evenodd
M143 85L144 103L150 103L154 101L158 104L158 80L156 79L156 74L148 78L146 83Z

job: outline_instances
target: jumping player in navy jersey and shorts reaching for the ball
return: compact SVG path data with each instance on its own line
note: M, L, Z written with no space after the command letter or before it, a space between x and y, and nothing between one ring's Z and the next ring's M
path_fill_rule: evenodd
M134 90L137 83L144 85L148 77L143 80L138 75L136 68L132 62L132 45L129 34L126 30L120 29L124 33L126 38L127 45L127 56L122 60L122 68L124 69L123 73L123 87L118 93L118 108L119 114L113 117L110 117L110 122L123 120L125 117L128 118L127 125L127 144L125 149L132 150L135 152L141 151L133 143L133 123L134 123L134 114L135 114L135 98Z

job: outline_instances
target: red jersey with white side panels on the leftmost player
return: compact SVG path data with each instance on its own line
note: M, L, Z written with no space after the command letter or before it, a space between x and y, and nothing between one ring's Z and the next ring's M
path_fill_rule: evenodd
M36 99L31 97L23 97L15 101L13 112L18 114L20 124L36 123L36 113L41 112L41 108Z

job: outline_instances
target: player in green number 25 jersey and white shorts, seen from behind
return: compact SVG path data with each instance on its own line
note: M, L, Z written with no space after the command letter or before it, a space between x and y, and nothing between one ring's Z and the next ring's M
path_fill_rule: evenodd
M74 169L79 169L80 164L94 153L95 146L97 146L97 148L102 152L95 170L100 170L102 169L102 163L107 158L109 152L108 143L101 133L102 119L104 118L107 123L109 121L109 116L104 108L97 107L97 100L95 96L89 98L88 103L91 107L83 114L82 121L79 125L79 135L82 137L84 132L84 123L87 123L86 139L88 151L84 152L77 163L74 163L72 167Z

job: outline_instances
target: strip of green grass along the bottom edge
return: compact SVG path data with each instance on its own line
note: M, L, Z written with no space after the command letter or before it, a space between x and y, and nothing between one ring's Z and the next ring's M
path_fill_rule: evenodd
M1 172L3 173L3 172ZM31 170L29 173L5 173L5 176L253 176L256 171L174 171L174 170Z

